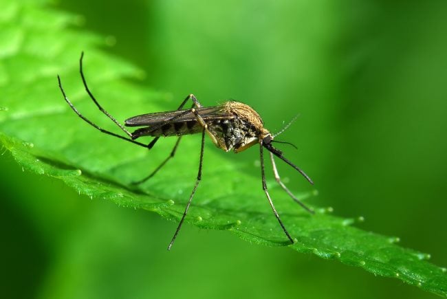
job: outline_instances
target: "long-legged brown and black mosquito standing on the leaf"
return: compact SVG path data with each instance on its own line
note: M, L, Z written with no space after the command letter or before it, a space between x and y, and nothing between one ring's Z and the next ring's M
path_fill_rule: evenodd
M263 191L265 192L265 196L267 197L270 207L273 210L274 216L278 220L279 225L281 225L281 228L283 229L283 232L287 236L287 239L290 241L291 244L294 243L292 236L290 236L289 232L285 228L285 225L283 224L283 221L281 221L281 218L279 217L279 214L276 211L276 208L274 207L272 198L270 197L270 194L268 192L267 184L265 183L264 153L263 153L263 148L266 148L270 153L270 161L272 162L274 177L279 186L281 186L281 188L283 188L283 190L285 190L285 192L287 192L287 194L294 201L296 201L296 203L298 203L308 212L314 214L314 210L305 206L305 204L301 202L299 199L297 199L292 194L292 192L290 192L290 190L285 186L285 184L283 184L281 178L279 177L276 164L274 162L274 156L279 157L279 159L283 160L283 162L289 164L295 170L297 170L298 173L301 173L301 175L303 175L303 177L305 177L305 179L307 179L307 181L309 181L310 184L312 185L314 184L312 179L310 179L303 172L303 170L301 170L301 168L298 168L298 166L296 166L288 159L286 159L283 156L283 153L279 151L279 149L274 148L274 146L272 145L273 142L276 142L274 140L274 137L276 137L276 135L283 133L283 131L287 129L287 127L290 125L291 122L287 124L285 128L281 130L279 133L272 134L270 133L270 131L264 128L263 121L259 116L259 114L247 104L235 101L228 101L215 107L202 107L197 98L195 98L193 94L190 94L183 100L182 104L180 104L180 106L175 111L145 113L125 120L124 126L140 127L139 129L136 129L131 133L122 124L120 124L120 122L118 122L116 118L113 118L113 116L109 112L107 112L104 108L102 108L98 100L96 100L94 95L91 93L87 85L87 80L85 80L84 76L83 57L84 52L82 52L82 54L80 55L79 71L80 71L80 78L83 80L85 91L87 91L89 97L96 104L98 109L100 109L100 111L104 113L107 116L107 118L109 118L112 122L114 122L121 129L121 131L124 132L127 136L119 135L117 133L113 133L111 131L102 129L94 122L91 122L91 120L85 118L85 116L81 114L78 111L78 109L74 107L72 102L70 102L70 100L67 98L65 91L62 87L61 78L57 76L58 85L59 88L61 89L65 101L67 102L67 104L69 104L69 107L71 107L73 111L80 118L82 118L85 122L87 122L91 126L94 126L94 128L98 129L102 133L118 137L122 140L126 140L127 142L131 142L133 144L142 146L149 150L153 148L153 146L160 139L161 136L164 137L177 136L177 142L175 142L175 145L171 150L171 153L168 155L168 157L166 157L166 159L164 159L164 161L157 168L155 168L155 170L153 170L151 174L147 175L143 179L140 179L140 181L134 182L134 184L141 184L144 181L147 181L148 179L153 177L155 173L157 173L158 170L160 170L160 168L162 168L166 164L166 162L168 162L169 159L173 158L183 135L190 135L195 133L201 134L199 171L197 173L197 178L195 181L195 185L193 187L193 191L190 193L188 203L186 203L182 219L180 219L180 222L177 226L177 230L175 230L175 234L171 239L171 243L169 243L168 245L168 250L171 250L171 247L173 246L173 243L177 238L177 234L179 233L180 228L182 228L182 224L184 222L186 214L188 214L190 203L193 200L193 197L197 190L197 186L199 186L199 183L201 181L201 170L204 160L205 135L208 135L212 140L212 143L214 143L218 148L221 148L223 151L226 152L234 151L235 153L240 153L241 151L245 151L247 148L254 146L254 144L259 144L259 157L261 160L261 181ZM184 106L188 101L193 102L193 104L190 109L184 109ZM136 141L136 139L142 136L152 136L154 138L151 142L149 142L149 144L144 144L142 142Z

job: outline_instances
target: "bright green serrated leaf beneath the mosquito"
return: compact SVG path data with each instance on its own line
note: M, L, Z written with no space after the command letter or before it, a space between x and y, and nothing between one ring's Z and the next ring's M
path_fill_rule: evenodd
M118 120L175 109L177 100L124 80L141 78L142 71L98 51L98 45L105 45L100 36L70 29L76 17L42 10L35 2L4 2L0 12L3 146L26 170L62 179L79 194L179 221L197 176L199 136L184 137L175 159L150 181L133 187L132 181L150 173L170 153L175 138L160 140L148 153L96 131L64 102L56 74L61 75L67 95L81 113L117 133L118 128L96 109L83 89L78 76L81 51L86 53L85 74L91 91ZM256 163L259 151L254 147L239 154L239 159L229 155L207 141L202 181L186 222L199 228L230 230L252 243L287 245L261 189ZM304 184L299 175L295 179ZM272 177L268 185L283 222L297 240L289 245L292 249L447 296L446 269L428 263L428 254L395 245L395 237L351 226L361 219L334 217L325 208L316 208L316 214L310 215L287 197ZM299 197L307 199L313 194Z

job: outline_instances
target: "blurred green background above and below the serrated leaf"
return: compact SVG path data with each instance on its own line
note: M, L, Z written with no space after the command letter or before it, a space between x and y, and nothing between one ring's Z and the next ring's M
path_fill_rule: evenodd
M49 9L113 36L107 51L146 71L137 84L179 101L246 102L272 131L299 113L281 140L298 146L285 152L316 182L313 202L361 215L364 230L447 265L445 1L70 0ZM2 298L435 298L188 225L187 241L167 252L176 224L157 214L79 197L23 173L8 153L0 169Z

